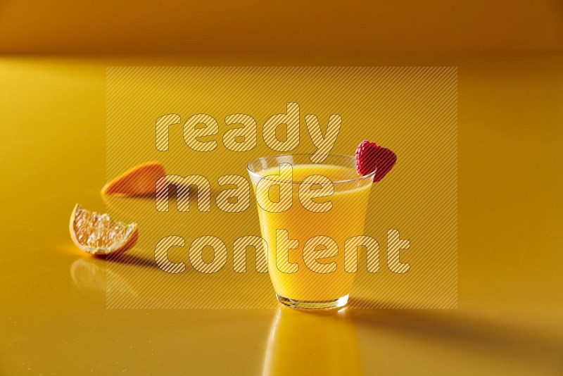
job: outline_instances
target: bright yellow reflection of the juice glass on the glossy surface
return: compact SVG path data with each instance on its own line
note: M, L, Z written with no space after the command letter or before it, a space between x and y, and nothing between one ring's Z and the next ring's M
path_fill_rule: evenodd
M262 375L362 375L358 339L346 311L279 308Z

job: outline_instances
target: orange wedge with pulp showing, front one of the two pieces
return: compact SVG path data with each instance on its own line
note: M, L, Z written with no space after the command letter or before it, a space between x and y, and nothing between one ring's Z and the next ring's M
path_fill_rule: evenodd
M70 215L70 237L78 248L93 255L124 252L137 242L137 223L111 220L107 214L87 211L76 204Z

